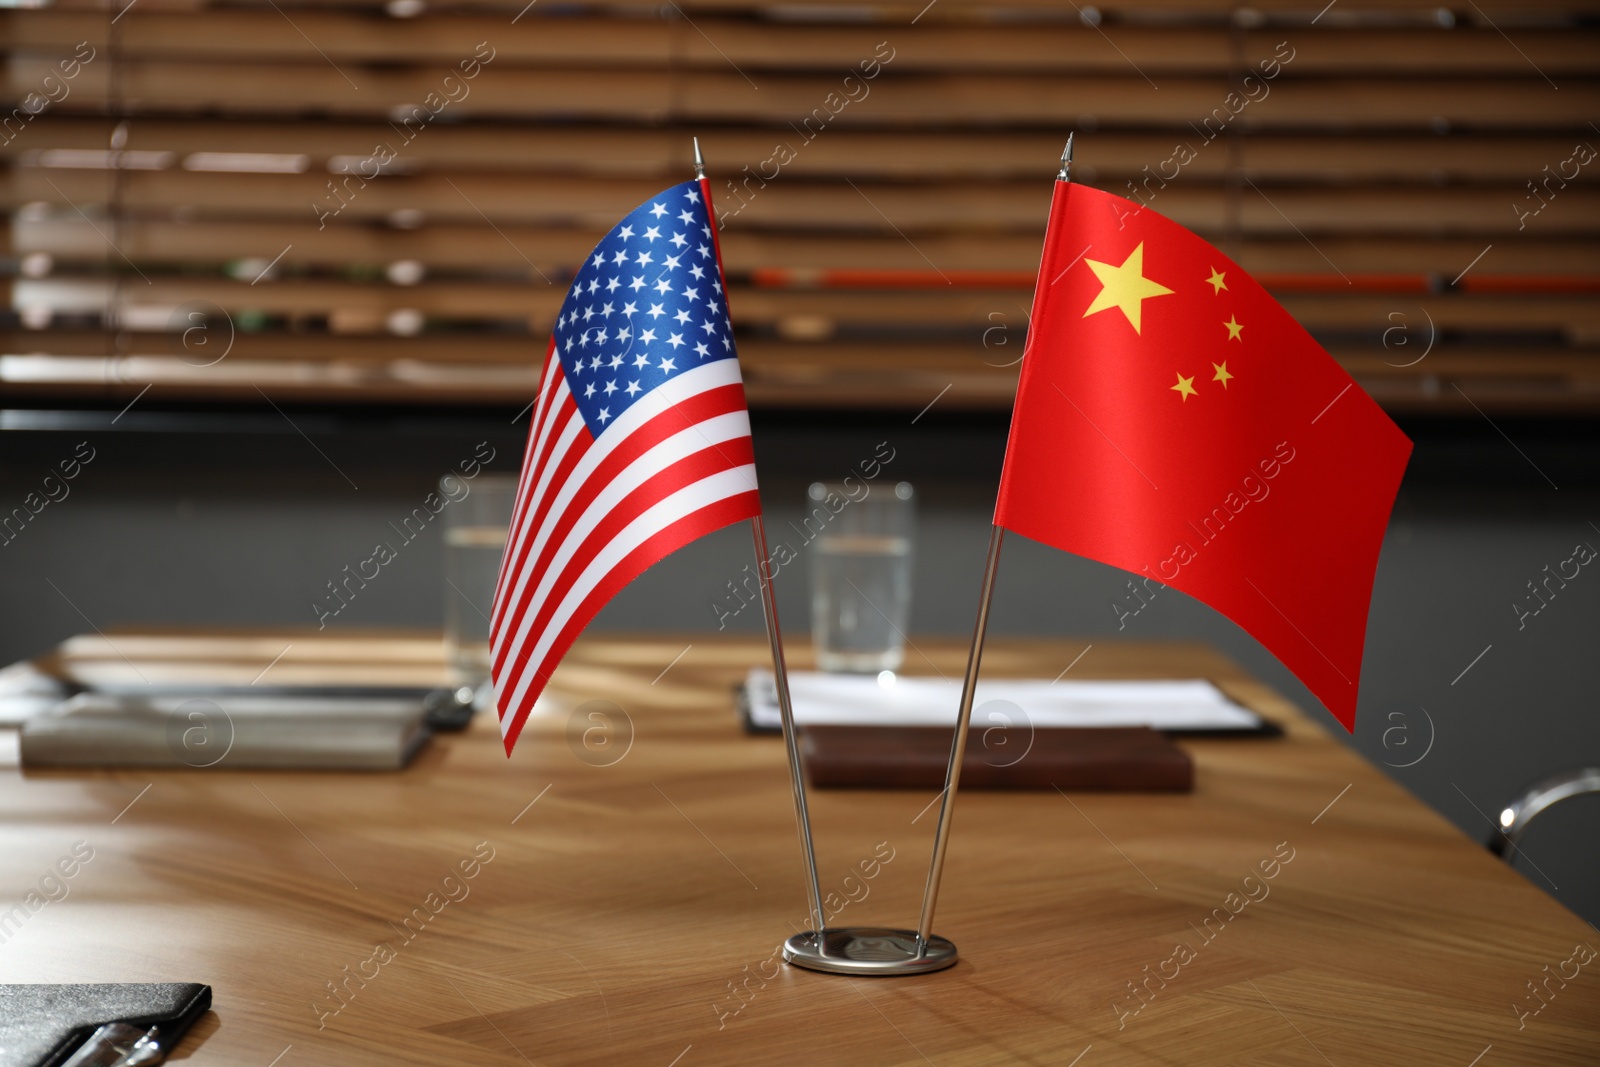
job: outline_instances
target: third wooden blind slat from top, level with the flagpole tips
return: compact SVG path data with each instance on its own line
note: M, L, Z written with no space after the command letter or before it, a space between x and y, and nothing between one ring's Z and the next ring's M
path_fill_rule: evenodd
M104 149L115 123L106 118L53 114L0 147L16 158L50 149ZM386 123L342 122L174 122L130 123L123 146L136 152L171 152L171 166L194 152L258 152L306 155L309 170L323 171L334 157L365 160L374 146L395 141ZM405 166L474 173L506 170L544 174L626 174L674 181L690 173L690 138L699 136L712 184L720 190L747 173L773 174L782 134L741 128L586 128L571 125L464 123L430 126L400 154ZM1125 189L1144 168L1171 174L1179 144L1195 149L1181 168L1181 184L1214 182L1235 168L1254 181L1310 184L1349 182L1512 182L1539 176L1573 155L1574 142L1594 141L1587 126L1571 134L1382 136L1328 133L1317 136L1243 136L1202 147L1200 138L1170 133L1078 133L1075 176ZM790 138L798 142L798 138ZM1058 131L965 130L829 130L795 147L781 165L789 178L896 178L920 181L1027 179L1048 181L1061 152ZM746 171L744 168L749 168Z

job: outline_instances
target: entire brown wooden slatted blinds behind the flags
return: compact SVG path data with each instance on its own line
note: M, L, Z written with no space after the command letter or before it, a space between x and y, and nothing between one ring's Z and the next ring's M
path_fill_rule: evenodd
M1600 3L405 5L0 13L0 389L520 406L563 278L699 134L752 403L1003 410L1075 128L1078 181L1227 250L1386 405L1600 410Z

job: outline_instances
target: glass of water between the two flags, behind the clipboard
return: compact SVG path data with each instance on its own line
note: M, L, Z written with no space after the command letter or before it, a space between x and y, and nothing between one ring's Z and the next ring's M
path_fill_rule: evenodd
M906 659L917 504L898 485L814 482L802 520L811 544L811 640L822 670L878 673Z

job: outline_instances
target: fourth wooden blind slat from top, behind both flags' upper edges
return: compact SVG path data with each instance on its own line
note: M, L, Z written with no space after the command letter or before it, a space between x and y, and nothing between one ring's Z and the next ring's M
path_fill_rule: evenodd
M333 186L333 189L330 189ZM1053 182L861 184L848 181L750 184L747 192L718 195L726 226L747 229L826 229L907 234L939 230L1037 232L1050 208ZM1587 187L1586 187L1587 186ZM1549 219L1568 232L1600 229L1600 189L1595 182L1557 189L1549 195ZM190 171L130 171L117 195L125 211L155 213L182 208L195 219L288 218L291 221L370 222L398 210L421 210L448 222L608 226L658 194L650 179L587 179L510 176L501 173L382 176L328 174L198 174ZM106 173L18 168L0 176L0 198L10 203L54 202L67 211L99 208L110 192ZM714 189L714 194L718 192ZM1126 190L1125 190L1126 192ZM1522 219L1514 205L1533 211L1539 200L1515 187L1446 189L1243 189L1141 182L1147 203L1192 229L1237 229L1243 234L1483 234L1510 235L1538 226ZM666 234L670 234L667 230ZM950 264L957 266L957 264Z

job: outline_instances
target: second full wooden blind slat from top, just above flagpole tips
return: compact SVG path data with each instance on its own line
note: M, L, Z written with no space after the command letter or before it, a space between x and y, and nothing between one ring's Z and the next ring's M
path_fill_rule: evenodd
M50 61L19 56L10 85L38 85ZM88 64L62 112L102 109L109 102L109 64ZM315 59L299 64L232 66L226 62L128 64L118 77L122 107L130 114L202 112L387 117L398 106L419 104L440 90L442 70L394 70ZM446 109L464 117L587 118L659 123L669 118L746 122L771 126L928 126L1032 123L1136 123L1181 126L1206 115L1246 128L1429 128L1445 120L1467 128L1578 128L1600 110L1594 82L1568 78L1555 91L1534 70L1522 80L1478 78L1280 78L1259 107L1226 107L1232 85L1222 77L1163 77L1152 86L1128 72L1114 77L1037 74L931 75L896 74L872 83L861 106L842 99L840 75L765 72L758 82L712 69L680 74L634 70L629 77L590 69L536 70L506 67L480 75L470 94ZM22 90L26 91L26 90ZM867 106L870 102L870 107ZM830 110L832 109L832 110ZM442 112L443 114L443 112Z

